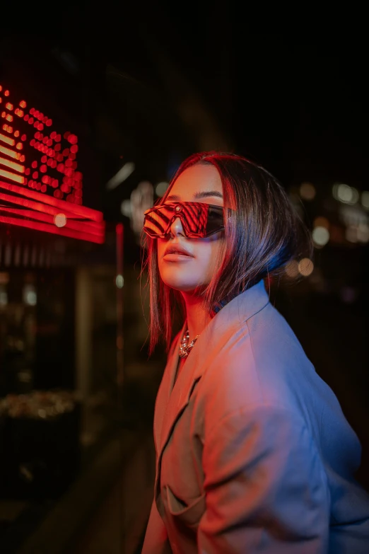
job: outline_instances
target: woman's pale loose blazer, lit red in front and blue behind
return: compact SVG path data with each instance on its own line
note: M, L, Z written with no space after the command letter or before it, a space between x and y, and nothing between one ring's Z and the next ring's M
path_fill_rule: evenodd
M361 445L264 283L216 314L175 381L180 335L142 553L369 554Z

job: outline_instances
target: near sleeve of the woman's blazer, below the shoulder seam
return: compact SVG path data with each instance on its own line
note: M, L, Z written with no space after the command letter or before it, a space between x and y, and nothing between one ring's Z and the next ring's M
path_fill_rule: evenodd
M327 477L300 417L257 406L223 417L204 437L201 554L328 552Z

